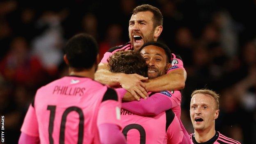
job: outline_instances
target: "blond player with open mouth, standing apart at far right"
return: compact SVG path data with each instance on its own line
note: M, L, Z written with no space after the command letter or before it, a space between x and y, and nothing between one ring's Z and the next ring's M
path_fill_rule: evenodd
M215 119L219 117L219 94L210 89L193 91L190 102L190 118L194 133L193 144L240 144L215 130Z

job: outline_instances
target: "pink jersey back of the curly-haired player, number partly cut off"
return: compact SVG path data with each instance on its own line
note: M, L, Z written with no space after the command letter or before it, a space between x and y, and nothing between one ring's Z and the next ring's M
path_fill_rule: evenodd
M122 132L128 144L181 144L184 133L174 112L142 117L121 109Z

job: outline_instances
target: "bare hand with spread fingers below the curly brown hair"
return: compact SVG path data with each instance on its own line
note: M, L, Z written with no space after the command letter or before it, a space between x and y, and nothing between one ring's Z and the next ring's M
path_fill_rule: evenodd
M124 89L129 91L139 101L140 97L146 99L148 95L146 85L142 82L142 80L147 79L138 74L123 74L119 82Z

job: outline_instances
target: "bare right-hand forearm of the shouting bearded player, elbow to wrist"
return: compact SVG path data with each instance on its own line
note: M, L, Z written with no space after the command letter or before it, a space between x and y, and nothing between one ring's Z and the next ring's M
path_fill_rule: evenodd
M187 72L185 69L176 69L169 73L145 82L149 91L180 90L185 87Z

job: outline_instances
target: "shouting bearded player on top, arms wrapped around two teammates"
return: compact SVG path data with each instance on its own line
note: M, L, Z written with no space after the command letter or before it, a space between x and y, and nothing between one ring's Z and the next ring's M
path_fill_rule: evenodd
M95 73L96 80L116 87L121 85L128 90L139 101L139 96L145 98L147 91L179 90L183 89L186 80L186 71L183 68L181 57L172 54L171 64L173 71L158 78L150 79L138 74L112 73L107 66L107 59L120 50L138 51L145 43L157 41L162 32L162 14L160 10L151 5L140 5L136 7L129 21L130 42L110 48L104 54L98 70ZM145 81L146 80L146 81Z

